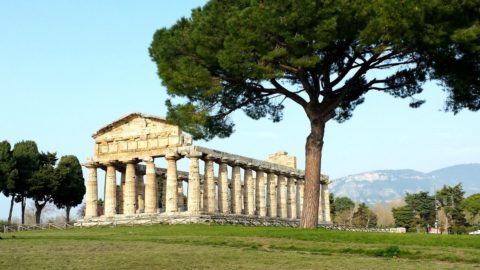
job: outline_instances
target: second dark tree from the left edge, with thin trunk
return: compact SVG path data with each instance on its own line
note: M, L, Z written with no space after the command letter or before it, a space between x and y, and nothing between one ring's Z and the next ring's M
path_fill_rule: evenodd
M22 224L25 224L25 207L29 183L33 173L38 170L40 154L34 141L21 141L14 145L12 155L15 160L15 168L18 171L12 194L15 196L15 201L21 204Z

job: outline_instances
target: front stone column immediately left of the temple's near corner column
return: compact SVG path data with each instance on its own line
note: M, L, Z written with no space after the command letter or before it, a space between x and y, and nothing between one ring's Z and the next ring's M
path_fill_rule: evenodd
M167 159L167 188L165 212L174 213L178 211L178 177L177 177L177 154L168 154Z

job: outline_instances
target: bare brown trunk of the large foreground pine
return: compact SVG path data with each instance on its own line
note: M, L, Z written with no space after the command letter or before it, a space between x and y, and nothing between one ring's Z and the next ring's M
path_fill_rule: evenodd
M320 195L320 171L325 121L311 119L311 132L305 145L305 191L300 228L316 228Z

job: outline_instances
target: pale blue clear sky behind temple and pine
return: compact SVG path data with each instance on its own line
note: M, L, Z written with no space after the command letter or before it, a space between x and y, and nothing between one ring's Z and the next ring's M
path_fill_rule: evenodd
M0 140L35 140L42 151L84 161L103 125L134 111L165 115L166 91L148 47L155 30L205 2L1 1ZM330 122L322 172L337 178L479 163L480 114L443 112L445 94L435 83L422 96L427 103L413 110L408 100L370 93L351 120ZM286 150L303 168L309 124L286 105L281 123L238 112L230 138L196 144L257 159ZM6 212L0 196L0 219Z

